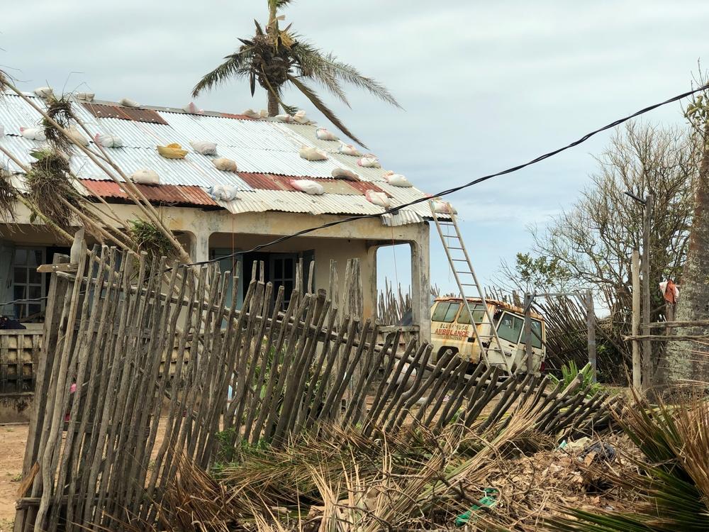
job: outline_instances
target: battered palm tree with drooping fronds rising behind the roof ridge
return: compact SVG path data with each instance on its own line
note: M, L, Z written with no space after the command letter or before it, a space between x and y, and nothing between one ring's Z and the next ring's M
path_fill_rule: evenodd
M362 75L359 70L338 60L332 53L325 53L308 43L301 35L291 31L291 25L281 29L279 22L284 16L279 15L278 11L290 3L291 0L268 0L269 21L265 30L255 21L255 35L252 38L239 39L242 42L239 50L226 56L221 65L205 74L194 87L193 96L213 89L228 79L244 78L249 80L252 96L257 82L266 90L269 116L276 116L279 106L286 113L293 114L297 109L284 104L281 99L284 89L290 84L306 96L342 133L364 146L325 105L310 83L322 85L348 107L350 103L342 89L342 83L365 89L388 104L399 107L398 102L384 85Z

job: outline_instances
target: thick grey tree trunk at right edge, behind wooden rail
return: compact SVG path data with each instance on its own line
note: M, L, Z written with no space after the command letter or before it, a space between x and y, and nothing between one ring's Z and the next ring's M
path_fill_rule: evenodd
M704 130L704 150L699 168L694 218L689 234L687 260L681 279L677 321L709 319L709 124ZM709 327L678 327L677 335L709 334ZM660 368L663 369L663 368ZM666 375L658 375L667 384L709 385L709 343L694 340L669 342Z

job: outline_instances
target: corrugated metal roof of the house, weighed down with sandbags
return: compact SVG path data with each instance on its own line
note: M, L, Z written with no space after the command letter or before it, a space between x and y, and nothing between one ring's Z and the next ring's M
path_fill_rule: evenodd
M43 100L30 96L38 104ZM99 102L94 106L111 107L111 102ZM101 108L103 109L103 108ZM121 108L126 111L130 108ZM138 109L138 111L141 111ZM136 112L138 112L136 111ZM318 140L315 125L286 124L273 120L253 120L241 115L225 113L206 113L194 115L175 109L150 107L143 109L155 113L165 123L127 120L123 118L99 118L83 105L75 105L74 112L84 122L86 128L94 133L110 133L123 140L123 148L108 148L116 164L125 174L149 168L160 175L161 183L177 187L211 187L216 184L228 184L240 191L240 199L231 202L232 211L286 211L310 212L313 214L376 214L384 209L369 203L364 196L368 189L381 190L391 196L392 204L404 204L423 197L415 188L390 187L384 179L384 168L363 168L357 166L358 157L337 153L340 143ZM219 116L215 116L219 115ZM130 116L130 115L129 115ZM138 118L143 116L140 112ZM147 116L147 114L146 114ZM227 118L228 116L228 118ZM21 162L32 161L28 151L38 148L43 143L26 140L19 136L19 128L36 126L41 116L21 98L6 94L0 99L0 124L5 126L5 135L0 137L4 148L13 153ZM215 157L201 155L191 150L191 140L206 140L217 144L218 157L228 157L237 162L240 172L221 172L213 166ZM168 160L158 155L156 146L179 143L188 150L184 160ZM302 145L314 146L328 153L328 160L308 161L298 155ZM20 169L9 163L12 170ZM71 157L72 170L80 179L106 181L108 177L89 160L86 155L74 153ZM291 177L305 179L327 179L334 182L332 172L335 168L345 168L357 174L362 182L347 182L354 189L354 194L343 192L342 187L328 187L334 193L321 196L309 196L303 192L293 192L289 184ZM240 174L242 177L240 177ZM272 176L263 179L258 176ZM274 184L277 183L277 185ZM339 183L337 183L339 184ZM265 186L279 189L265 189ZM113 182L108 186L113 187ZM257 190L255 190L257 189ZM284 190L285 189L285 190ZM180 194L173 189L172 193ZM347 189L349 190L349 189ZM115 192L115 191L114 191ZM162 192L160 193L162 194ZM284 194L286 194L284 196ZM115 196L119 197L119 196ZM172 199L176 199L172 197ZM156 199L156 201L162 201ZM195 203L201 205L201 203ZM385 216L384 223L419 223L423 218L430 218L428 204L419 204L402 209L400 214Z

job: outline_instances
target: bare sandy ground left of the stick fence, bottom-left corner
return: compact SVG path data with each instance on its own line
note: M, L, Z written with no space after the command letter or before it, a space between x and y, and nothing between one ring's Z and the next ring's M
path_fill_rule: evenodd
M12 530L28 426L0 425L0 532Z

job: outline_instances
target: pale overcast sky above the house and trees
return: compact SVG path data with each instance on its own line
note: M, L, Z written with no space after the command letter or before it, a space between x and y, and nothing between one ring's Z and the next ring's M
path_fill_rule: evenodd
M356 8L356 9L355 9ZM2 0L0 65L31 90L91 90L183 106L200 75L264 21L265 0L170 2ZM406 111L352 90L352 109L328 99L384 166L425 192L525 162L690 87L709 58L709 2L300 0L286 23L386 84ZM16 69L16 70L14 70ZM295 94L286 101L317 113ZM197 103L240 112L264 107L240 82ZM681 123L679 105L649 121ZM535 167L451 197L479 275L527 250L588 183L608 134ZM432 281L452 289L437 235ZM383 272L393 277L391 252ZM407 284L406 253L396 257Z

